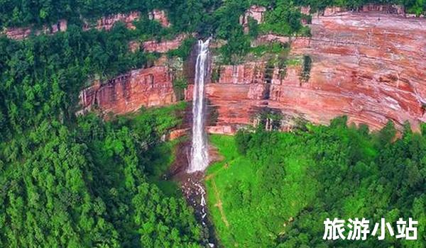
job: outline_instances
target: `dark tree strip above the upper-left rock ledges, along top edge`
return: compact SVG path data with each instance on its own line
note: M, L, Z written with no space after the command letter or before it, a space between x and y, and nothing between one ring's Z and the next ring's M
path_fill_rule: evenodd
M82 18L95 19L116 13L141 11L148 16L148 11L163 9L173 23L173 30L196 30L207 13L220 1L155 1L155 0L94 0L94 1L0 1L0 29L13 26L42 26L66 19L72 24L81 24ZM190 11L188 11L190 10Z

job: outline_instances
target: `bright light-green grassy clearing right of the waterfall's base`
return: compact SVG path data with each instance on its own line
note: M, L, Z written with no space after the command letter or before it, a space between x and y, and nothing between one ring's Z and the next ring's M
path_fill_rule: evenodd
M239 154L234 137L212 135L210 142L224 157L207 169L206 179L209 210L222 245L268 247L315 194L309 189L315 183L305 173L308 160L288 159L288 184L266 192L265 168Z

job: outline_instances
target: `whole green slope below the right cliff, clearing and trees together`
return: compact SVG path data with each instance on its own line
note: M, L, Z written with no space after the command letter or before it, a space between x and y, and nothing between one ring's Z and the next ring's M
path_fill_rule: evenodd
M426 136L306 125L294 133L212 135L224 156L207 171L208 205L224 247L425 247ZM418 220L416 241L324 241L326 218ZM396 232L396 231L395 231Z

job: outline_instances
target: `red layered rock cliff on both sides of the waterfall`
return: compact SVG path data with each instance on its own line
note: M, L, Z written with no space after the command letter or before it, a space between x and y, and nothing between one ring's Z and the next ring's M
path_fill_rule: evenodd
M256 125L265 112L283 114L283 130L294 124L294 118L327 124L339 115L372 130L388 120L399 128L408 121L418 130L426 121L426 20L378 13L376 7L366 12L334 11L312 18L312 37L283 38L291 44L293 61L286 66L262 60L213 64L206 94L210 115L216 118L207 130L231 134L241 125ZM310 69L306 61L312 61ZM170 104L176 101L173 77L168 65L134 70L84 89L82 106L127 113L141 106ZM192 99L192 85L185 90L185 99Z

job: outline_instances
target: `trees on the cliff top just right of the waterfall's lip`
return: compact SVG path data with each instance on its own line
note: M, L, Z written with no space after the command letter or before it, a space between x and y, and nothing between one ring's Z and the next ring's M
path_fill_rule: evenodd
M249 33L244 34L239 18L252 4L271 6L266 11L265 20L259 24L249 18ZM286 0L268 1L226 1L214 12L214 33L217 38L227 43L219 49L224 64L238 64L251 52L251 40L260 34L275 33L277 35L309 35L309 28L301 24L300 9L293 2Z

